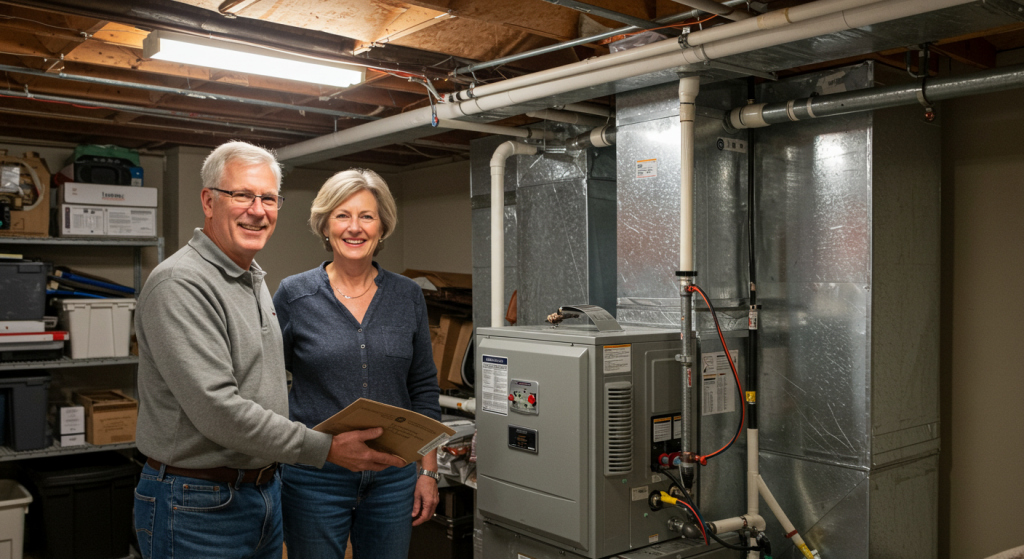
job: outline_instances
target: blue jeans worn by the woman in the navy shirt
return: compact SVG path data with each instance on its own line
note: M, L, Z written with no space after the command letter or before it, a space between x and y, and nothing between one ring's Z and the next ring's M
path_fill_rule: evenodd
M285 466L281 506L289 559L406 559L413 533L416 464L382 472Z

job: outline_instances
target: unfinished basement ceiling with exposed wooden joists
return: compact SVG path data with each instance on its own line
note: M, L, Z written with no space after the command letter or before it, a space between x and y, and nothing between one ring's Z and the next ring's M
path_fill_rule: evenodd
M683 1L683 0L680 0ZM604 14L653 22L689 11L670 0L588 0ZM767 9L804 3L763 2ZM0 0L0 135L161 149L245 139L281 147L427 105L462 89L608 52L564 48L472 74L453 70L590 36L624 24L545 0ZM717 17L702 26L725 20ZM651 24L653 25L653 24ZM341 89L142 57L155 29L190 29L367 64L362 84ZM586 30L581 35L581 30ZM670 30L671 31L671 30ZM936 43L943 57L980 69L1024 47L1024 24ZM814 67L871 58L903 68L898 48ZM410 78L414 79L411 80ZM610 98L592 102L611 103ZM512 117L498 124L536 122ZM468 158L482 134L447 131L339 158L395 167Z

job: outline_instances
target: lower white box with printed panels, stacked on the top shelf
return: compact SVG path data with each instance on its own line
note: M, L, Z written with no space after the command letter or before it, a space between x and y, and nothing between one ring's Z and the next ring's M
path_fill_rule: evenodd
M157 210L61 204L60 236L157 236Z

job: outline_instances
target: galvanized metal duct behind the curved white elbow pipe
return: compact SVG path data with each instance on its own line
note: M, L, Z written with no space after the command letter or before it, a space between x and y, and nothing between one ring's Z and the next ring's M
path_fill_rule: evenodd
M559 137L585 128L549 123ZM490 324L489 161L504 141L470 144L473 322ZM540 325L560 305L614 308L614 146L509 158L505 167L505 306L518 291L518 324Z

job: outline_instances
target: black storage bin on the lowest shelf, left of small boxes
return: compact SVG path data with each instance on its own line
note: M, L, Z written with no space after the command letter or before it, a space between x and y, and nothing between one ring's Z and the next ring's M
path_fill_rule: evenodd
M50 445L46 432L46 400L50 390L48 373L0 374L0 392L6 400L4 433L14 450L35 450Z

